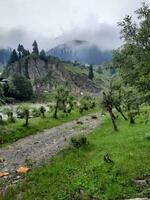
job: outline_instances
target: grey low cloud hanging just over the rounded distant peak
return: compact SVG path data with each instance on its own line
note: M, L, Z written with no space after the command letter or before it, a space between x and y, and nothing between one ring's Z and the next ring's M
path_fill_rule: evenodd
M95 27L75 28L55 39L54 44L71 40L86 40L102 50L116 49L121 45L118 27L105 23Z

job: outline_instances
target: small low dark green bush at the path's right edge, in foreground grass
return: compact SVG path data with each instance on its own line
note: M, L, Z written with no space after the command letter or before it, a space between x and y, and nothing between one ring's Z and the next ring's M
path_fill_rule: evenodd
M78 137L71 138L71 145L73 145L75 148L80 148L87 144L88 144L88 142L87 142L87 138L85 136L78 136Z

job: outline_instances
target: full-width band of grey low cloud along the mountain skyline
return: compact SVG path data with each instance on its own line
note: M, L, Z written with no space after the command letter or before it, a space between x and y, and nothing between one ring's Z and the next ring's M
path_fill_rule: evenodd
M20 43L31 50L34 40L37 40L40 49L45 50L71 40L86 40L92 45L97 45L102 50L116 49L121 45L118 28L106 23L100 24L94 17L88 19L82 27L76 27L64 32L57 38L28 32L22 27L11 30L0 28L0 48L17 48Z

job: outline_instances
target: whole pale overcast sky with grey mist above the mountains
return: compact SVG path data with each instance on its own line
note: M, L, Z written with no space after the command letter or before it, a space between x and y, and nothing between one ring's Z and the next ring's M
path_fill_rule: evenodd
M72 39L85 39L101 48L119 46L116 26L141 0L0 0L0 46L34 39L42 48ZM150 3L150 0L145 0Z

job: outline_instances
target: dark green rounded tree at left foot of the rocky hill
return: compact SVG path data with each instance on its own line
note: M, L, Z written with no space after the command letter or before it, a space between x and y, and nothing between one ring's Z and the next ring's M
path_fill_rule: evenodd
M32 84L24 76L14 74L10 84L12 84L12 95L14 98L18 100L30 100L32 98Z

